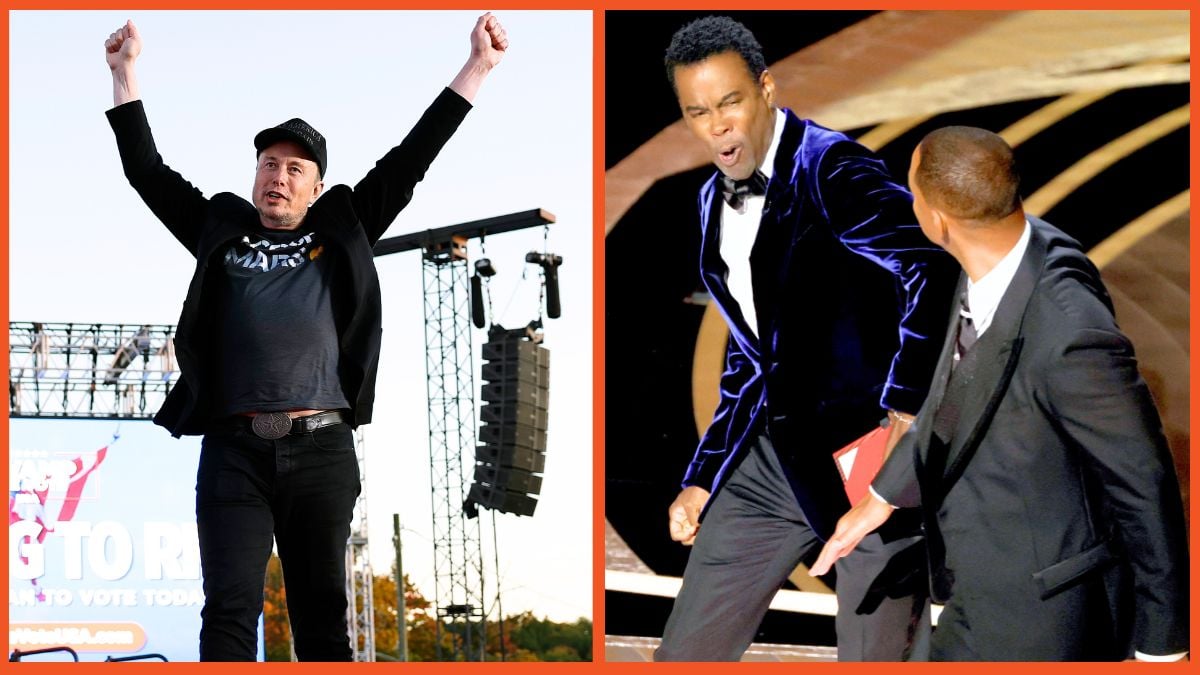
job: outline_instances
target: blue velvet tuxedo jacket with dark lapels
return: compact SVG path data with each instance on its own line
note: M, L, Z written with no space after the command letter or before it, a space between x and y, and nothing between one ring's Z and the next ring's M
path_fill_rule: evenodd
M881 400L920 406L956 269L922 234L912 197L882 161L785 112L750 255L754 334L725 282L718 174L701 190L701 275L731 335L720 402L683 484L715 496L769 434L823 539L848 508L830 454L878 423Z

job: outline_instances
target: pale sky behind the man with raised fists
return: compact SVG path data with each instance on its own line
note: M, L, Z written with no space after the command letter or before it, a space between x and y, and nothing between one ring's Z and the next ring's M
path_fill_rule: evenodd
M206 196L248 198L254 133L293 117L328 139L326 189L358 181L458 72L481 13L12 12L10 318L179 318L194 262L126 183L104 117L103 42L126 18L143 36L138 79L164 161ZM524 253L548 246L564 258L563 316L545 322L546 474L534 516L497 519L499 587L504 614L574 621L592 616L592 13L497 16L509 53L385 237L534 208L557 216L548 241L541 228L486 241L493 321L508 328L538 316L538 268ZM478 240L469 253L480 256ZM398 513L404 572L432 598L420 255L377 267L383 354L364 435L371 561L377 573L391 567ZM485 339L473 331L476 354ZM155 429L157 452L198 442ZM490 525L481 538L491 569Z

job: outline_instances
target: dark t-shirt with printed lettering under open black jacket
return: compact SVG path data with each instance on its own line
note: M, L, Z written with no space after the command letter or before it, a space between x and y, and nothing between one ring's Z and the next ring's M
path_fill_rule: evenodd
M260 229L233 241L223 263L223 413L348 408L331 301L337 256L314 233Z

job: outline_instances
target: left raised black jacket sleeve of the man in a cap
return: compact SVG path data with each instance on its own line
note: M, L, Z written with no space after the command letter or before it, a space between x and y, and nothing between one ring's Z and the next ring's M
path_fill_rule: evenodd
M209 201L162 161L140 100L104 114L116 135L116 149L130 185L175 239L196 256Z

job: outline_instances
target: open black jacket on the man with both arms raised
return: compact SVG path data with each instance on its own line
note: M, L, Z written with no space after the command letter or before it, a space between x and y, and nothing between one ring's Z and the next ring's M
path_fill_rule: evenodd
M338 376L350 402L350 424L371 422L376 371L383 333L379 276L372 246L413 197L413 189L438 151L470 110L462 96L445 89L425 110L400 145L380 159L353 189L335 185L308 209L306 232L317 232L349 264L334 288L338 327ZM162 161L140 101L108 110L121 165L130 184L155 216L196 256L196 271L175 330L180 378L155 423L174 436L204 434L216 406L210 375L216 372L216 319L209 311L215 281L224 274L220 256L226 245L258 227L254 205L230 192L204 197ZM248 153L248 149L247 149Z

